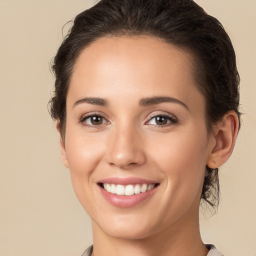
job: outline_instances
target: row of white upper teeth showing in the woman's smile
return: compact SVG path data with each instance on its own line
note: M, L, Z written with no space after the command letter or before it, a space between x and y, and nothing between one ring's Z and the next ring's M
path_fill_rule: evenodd
M109 184L103 183L103 187L107 192L118 195L132 195L144 193L152 188L154 188L155 184L129 184L129 185L121 185L121 184Z

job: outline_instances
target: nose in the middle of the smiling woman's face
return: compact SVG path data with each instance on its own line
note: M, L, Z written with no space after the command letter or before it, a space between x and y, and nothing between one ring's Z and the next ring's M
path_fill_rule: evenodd
M108 138L105 157L110 165L121 169L129 169L131 166L143 164L146 157L141 134L131 127L116 127Z

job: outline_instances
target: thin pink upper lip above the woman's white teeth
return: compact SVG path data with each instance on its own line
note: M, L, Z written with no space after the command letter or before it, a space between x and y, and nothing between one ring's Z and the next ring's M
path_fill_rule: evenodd
M120 184L120 185L129 185L129 184L154 184L158 183L155 180L148 180L139 177L108 177L103 178L98 181L98 183L109 183L109 184Z

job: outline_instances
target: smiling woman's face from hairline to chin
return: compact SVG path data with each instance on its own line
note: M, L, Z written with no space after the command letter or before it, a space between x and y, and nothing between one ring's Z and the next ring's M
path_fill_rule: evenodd
M62 157L95 229L134 239L198 221L212 143L192 66L151 37L101 38L78 57Z

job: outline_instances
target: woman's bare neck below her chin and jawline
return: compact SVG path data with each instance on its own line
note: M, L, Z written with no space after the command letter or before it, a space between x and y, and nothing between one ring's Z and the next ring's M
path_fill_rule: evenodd
M93 256L206 256L208 253L200 237L198 214L140 239L109 236L93 221L92 229Z

